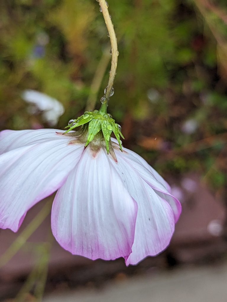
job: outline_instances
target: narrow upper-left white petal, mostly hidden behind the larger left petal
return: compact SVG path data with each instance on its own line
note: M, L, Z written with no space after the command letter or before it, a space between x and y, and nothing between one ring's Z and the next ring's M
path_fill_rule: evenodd
M56 129L3 130L0 132L0 154L19 147L34 143L44 143L49 140L69 141L69 137L57 135L56 132L64 133L64 131Z

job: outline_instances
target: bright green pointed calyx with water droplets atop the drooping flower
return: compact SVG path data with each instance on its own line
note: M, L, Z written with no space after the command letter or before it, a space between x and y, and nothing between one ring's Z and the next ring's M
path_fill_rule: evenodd
M71 122L66 128L68 128L65 133L74 130L75 128L88 123L88 136L85 147L94 139L95 135L102 130L103 137L106 143L106 151L109 154L109 141L111 133L113 132L116 139L118 140L120 150L122 152L122 143L120 136L124 139L121 133L121 126L115 123L111 114L106 113L106 108L101 106L101 108L94 111L85 111L83 115L77 117ZM64 133L64 134L65 134Z

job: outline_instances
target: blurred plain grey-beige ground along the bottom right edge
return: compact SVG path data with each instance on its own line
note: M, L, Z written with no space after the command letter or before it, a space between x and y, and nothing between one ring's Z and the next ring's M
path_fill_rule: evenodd
M227 264L180 268L114 281L94 288L54 292L44 302L226 302Z

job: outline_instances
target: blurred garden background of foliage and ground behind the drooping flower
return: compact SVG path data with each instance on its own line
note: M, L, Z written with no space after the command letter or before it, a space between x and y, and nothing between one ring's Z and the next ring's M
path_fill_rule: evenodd
M123 145L172 186L170 246L125 267L53 239L53 196L0 230L1 301L226 302L226 0L109 0L118 69L109 113ZM110 42L95 0L1 0L0 130L63 129L99 108Z

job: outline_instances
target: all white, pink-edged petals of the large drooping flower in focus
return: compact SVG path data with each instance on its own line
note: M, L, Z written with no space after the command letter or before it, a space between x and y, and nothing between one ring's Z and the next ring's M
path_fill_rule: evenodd
M164 250L181 212L169 185L117 140L117 161L53 129L0 133L0 227L18 230L27 211L57 191L51 226L58 243L90 259L135 265Z

